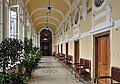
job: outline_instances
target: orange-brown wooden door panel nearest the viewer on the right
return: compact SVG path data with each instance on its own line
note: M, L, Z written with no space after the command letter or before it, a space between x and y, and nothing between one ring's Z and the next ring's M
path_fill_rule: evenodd
M97 38L97 77L109 75L109 50L110 40L109 35L100 36ZM108 80L100 80L99 84L109 84Z

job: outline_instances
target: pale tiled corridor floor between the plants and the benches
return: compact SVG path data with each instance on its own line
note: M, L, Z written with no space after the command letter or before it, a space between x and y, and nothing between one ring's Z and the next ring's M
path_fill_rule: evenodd
M44 56L28 84L83 84L54 57ZM86 84L86 83L84 83Z

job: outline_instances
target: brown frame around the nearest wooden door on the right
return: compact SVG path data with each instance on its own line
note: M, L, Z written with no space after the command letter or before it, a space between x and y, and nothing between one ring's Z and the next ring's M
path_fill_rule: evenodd
M93 35L93 77L94 77L94 83L96 83L96 78L98 77L98 69L96 67L98 67L98 52L97 52L97 39L99 37L102 37L102 36L108 36L109 37L109 57L108 57L108 74L110 75L110 31L106 31L106 32L102 32L102 33L98 33L98 34L95 34Z

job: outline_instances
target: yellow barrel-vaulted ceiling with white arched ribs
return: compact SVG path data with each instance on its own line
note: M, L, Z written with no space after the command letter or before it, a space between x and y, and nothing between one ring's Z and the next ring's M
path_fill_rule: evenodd
M48 14L48 27L51 30L56 30L73 2L74 0L50 0L52 9ZM49 0L25 0L25 6L36 31L46 27Z

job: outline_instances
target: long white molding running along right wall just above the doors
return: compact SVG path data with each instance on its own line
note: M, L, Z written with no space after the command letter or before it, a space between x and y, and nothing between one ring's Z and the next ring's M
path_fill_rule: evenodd
M106 25L106 23L107 23L107 25ZM112 21L110 24L108 24L108 22L104 21L104 22L96 25L96 27L98 27L98 28L94 28L94 29L91 28L90 31L80 34L79 37L73 36L72 38L69 38L68 41L64 40L63 43L79 40L81 38L85 38L87 36L95 35L98 33L105 32L105 31L109 31L111 29L118 29L118 28L120 29L120 19ZM58 42L60 42L60 41L58 41Z

